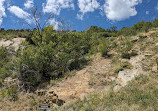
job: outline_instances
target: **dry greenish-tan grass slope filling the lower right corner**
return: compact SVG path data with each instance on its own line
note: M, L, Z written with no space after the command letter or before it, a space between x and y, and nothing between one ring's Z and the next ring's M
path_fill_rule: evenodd
M155 78L156 76L156 78ZM119 92L97 93L57 111L156 111L158 74L141 75ZM53 110L54 111L54 110Z

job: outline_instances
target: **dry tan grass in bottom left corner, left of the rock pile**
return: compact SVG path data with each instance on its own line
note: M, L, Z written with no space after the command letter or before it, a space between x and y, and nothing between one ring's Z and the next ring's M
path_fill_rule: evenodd
M19 93L17 101L11 101L8 97L0 97L0 111L36 111L39 98L35 94Z

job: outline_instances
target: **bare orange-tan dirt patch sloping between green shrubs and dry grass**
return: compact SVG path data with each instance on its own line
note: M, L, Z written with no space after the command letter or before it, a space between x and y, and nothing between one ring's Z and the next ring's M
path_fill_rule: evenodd
M49 89L49 91L53 90L58 97L64 101L82 98L86 94L95 91L95 89L89 85L91 74L103 73L107 70L107 65L109 64L109 59L99 58L98 60L93 61L91 65L81 71L78 71L75 76L69 77L68 79L53 86Z

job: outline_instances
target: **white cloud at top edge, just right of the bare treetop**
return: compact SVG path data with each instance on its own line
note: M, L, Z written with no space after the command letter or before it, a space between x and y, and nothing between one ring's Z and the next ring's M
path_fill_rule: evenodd
M73 0L47 0L46 4L43 4L44 13L54 13L59 15L61 9L72 8L74 9Z

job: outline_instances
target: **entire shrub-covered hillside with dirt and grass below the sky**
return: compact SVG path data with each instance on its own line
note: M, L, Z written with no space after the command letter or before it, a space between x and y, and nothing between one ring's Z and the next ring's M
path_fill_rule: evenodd
M36 33L0 40L1 111L158 110L157 28L127 28L128 36L51 29L42 42Z

